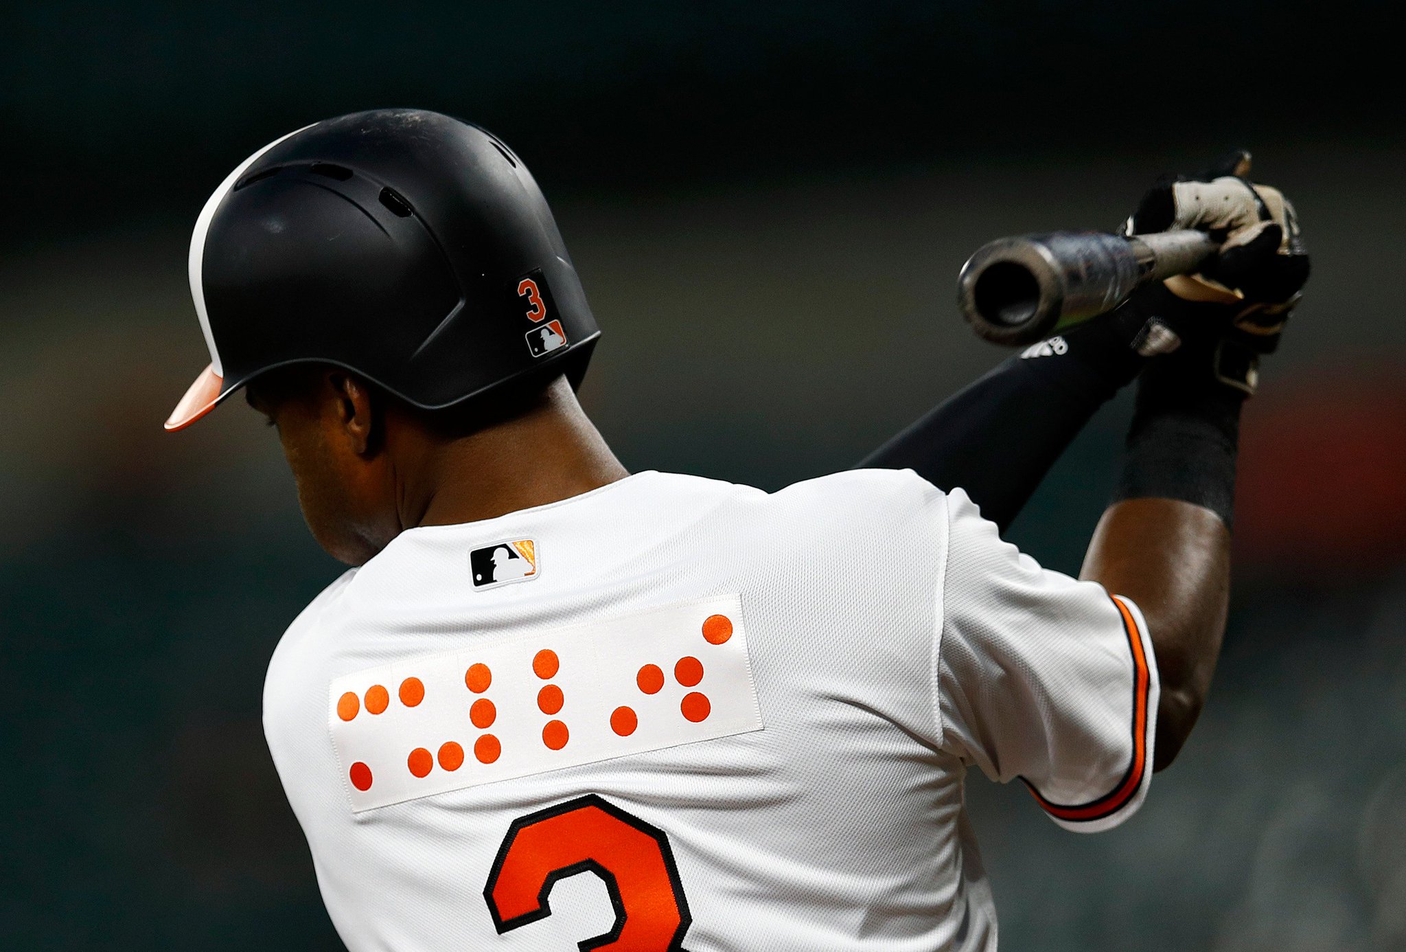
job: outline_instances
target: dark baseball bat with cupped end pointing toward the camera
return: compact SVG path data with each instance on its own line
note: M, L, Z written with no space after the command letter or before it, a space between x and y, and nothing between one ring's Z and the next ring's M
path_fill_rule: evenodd
M1216 247L1198 231L998 238L962 266L957 307L977 336L1029 345L1112 311L1140 284L1197 271Z

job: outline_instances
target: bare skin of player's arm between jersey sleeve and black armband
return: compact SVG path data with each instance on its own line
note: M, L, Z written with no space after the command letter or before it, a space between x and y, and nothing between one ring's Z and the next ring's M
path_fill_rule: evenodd
M1230 595L1230 532L1181 499L1123 499L1104 513L1081 578L1142 609L1157 655L1161 700L1153 769L1171 764L1205 705Z

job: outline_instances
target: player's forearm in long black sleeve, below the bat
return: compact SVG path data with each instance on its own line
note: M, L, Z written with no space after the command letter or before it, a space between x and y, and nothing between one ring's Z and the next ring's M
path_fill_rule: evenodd
M1088 419L1143 364L1135 302L1067 337L1011 357L879 447L859 465L911 468L963 488L1004 533Z

